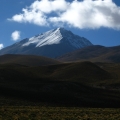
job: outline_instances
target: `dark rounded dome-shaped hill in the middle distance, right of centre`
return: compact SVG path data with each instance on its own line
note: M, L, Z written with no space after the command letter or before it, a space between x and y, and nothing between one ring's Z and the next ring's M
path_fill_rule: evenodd
M61 80L86 83L110 78L110 74L107 71L91 62L76 62L59 66L51 76Z

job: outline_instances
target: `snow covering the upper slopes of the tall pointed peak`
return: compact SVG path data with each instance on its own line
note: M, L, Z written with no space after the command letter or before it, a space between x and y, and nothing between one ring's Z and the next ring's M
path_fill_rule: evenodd
M81 38L80 40L80 37L73 35L70 31L67 31L64 28L57 28L30 38L29 41L22 46L35 44L36 47L42 47L45 45L59 44L63 38L66 38L66 40L76 48L82 48L86 45L91 45L91 43L85 38Z

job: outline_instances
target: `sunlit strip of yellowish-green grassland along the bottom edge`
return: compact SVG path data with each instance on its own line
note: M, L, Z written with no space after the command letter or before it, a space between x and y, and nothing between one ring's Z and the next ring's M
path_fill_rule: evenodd
M120 109L73 107L0 107L0 120L119 120Z

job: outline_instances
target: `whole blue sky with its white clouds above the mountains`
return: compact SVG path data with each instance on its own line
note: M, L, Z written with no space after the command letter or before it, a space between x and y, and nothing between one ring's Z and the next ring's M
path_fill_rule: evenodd
M57 27L95 45L120 45L120 1L0 0L0 49Z

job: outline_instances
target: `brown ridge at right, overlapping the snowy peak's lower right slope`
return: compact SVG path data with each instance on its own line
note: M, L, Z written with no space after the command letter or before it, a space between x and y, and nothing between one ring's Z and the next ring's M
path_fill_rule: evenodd
M88 46L57 58L60 61L92 61L120 63L120 46Z

